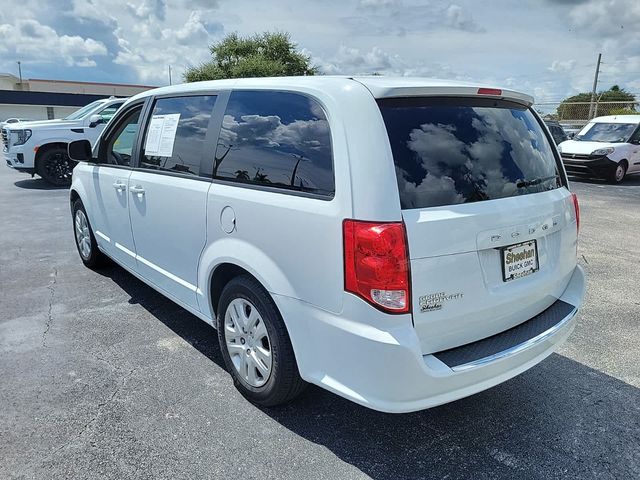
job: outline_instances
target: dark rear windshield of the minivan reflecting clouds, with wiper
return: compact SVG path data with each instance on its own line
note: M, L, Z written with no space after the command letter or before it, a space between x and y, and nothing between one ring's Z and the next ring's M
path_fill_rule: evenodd
M531 111L502 100L383 99L402 208L479 202L561 186Z

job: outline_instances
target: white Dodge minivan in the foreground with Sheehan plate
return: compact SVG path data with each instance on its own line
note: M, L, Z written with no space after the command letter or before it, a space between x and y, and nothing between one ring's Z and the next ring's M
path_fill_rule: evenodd
M308 382L386 412L471 395L557 349L583 301L532 101L389 77L144 92L69 145L80 257L213 325L257 404Z

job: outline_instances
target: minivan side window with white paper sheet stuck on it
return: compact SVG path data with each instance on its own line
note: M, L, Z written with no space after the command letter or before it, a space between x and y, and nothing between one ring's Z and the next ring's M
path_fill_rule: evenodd
M200 175L215 95L155 101L143 143L141 168Z

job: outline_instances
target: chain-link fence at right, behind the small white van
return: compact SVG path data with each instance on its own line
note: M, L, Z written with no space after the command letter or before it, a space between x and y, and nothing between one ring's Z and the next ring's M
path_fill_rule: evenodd
M556 120L564 126L580 128L589 119L604 115L640 114L635 102L542 102L534 105L546 120Z

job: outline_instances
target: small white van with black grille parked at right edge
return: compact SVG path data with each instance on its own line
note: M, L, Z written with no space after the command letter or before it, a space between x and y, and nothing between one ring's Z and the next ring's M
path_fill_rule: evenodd
M640 173L640 115L594 118L558 148L569 174L620 183Z

